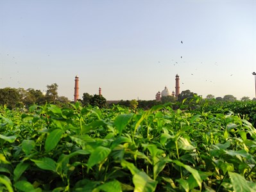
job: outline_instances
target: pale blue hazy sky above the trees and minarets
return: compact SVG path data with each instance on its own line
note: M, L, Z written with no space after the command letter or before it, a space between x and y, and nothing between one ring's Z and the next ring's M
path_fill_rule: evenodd
M255 71L256 1L0 0L0 88L253 99Z

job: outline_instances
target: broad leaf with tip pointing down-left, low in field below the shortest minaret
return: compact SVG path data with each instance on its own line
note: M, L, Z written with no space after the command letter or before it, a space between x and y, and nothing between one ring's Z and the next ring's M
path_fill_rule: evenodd
M101 161L106 159L108 157L108 155L110 154L110 152L111 152L110 148L102 147L102 146L97 147L92 152L92 154L90 154L90 157L88 159L88 163L87 163L88 164L88 170L89 170L89 168L91 168L95 164L101 163Z

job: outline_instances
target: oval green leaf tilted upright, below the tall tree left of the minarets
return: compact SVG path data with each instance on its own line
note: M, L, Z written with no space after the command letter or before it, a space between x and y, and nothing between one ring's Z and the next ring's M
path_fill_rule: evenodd
M55 129L47 135L46 145L44 147L46 149L46 153L56 147L58 141L60 141L60 138L62 137L62 133L62 129Z

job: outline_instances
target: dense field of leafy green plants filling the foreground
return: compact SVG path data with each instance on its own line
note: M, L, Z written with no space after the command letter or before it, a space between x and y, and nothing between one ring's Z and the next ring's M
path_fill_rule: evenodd
M0 191L256 191L256 129L221 108L0 108Z

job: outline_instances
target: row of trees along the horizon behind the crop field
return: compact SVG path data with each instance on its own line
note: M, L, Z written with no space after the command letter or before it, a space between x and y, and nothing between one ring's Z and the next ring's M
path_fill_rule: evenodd
M0 105L6 105L8 108L28 108L32 104L46 104L52 103L58 106L67 106L71 102L67 97L58 95L58 84L53 83L47 85L46 93L42 93L40 90L35 90L29 88L25 90L24 88L2 88L0 89ZM131 109L149 109L157 104L164 104L166 102L173 103L173 108L180 108L180 104L189 104L193 106L195 104L195 97L198 96L197 93L191 92L190 90L185 90L178 95L178 99L173 96L162 97L160 101L157 100L119 100L115 102L115 105L126 106ZM224 97L215 97L209 94L205 99L209 104L214 104L216 102L235 102L237 99L233 95L225 95ZM249 97L242 97L241 101L248 101ZM254 99L253 99L254 100ZM108 108L112 106L113 103L108 103L107 99L102 95L90 95L89 93L83 93L82 99L78 100L83 106L98 106L99 108ZM180 103L180 104L179 104Z

